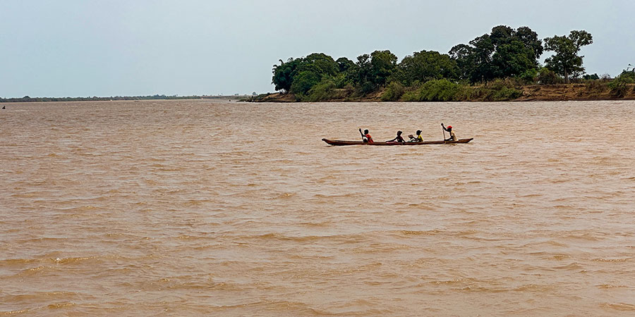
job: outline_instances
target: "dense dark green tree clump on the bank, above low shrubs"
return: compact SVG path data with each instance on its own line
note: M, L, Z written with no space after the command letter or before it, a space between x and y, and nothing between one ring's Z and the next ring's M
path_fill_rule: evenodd
M526 82L555 82L557 78L550 78L538 63L543 51L555 51L546 67L555 72L552 77L560 74L568 82L569 77L583 74L583 56L578 52L592 42L591 34L574 30L567 37L545 38L543 44L530 27L497 25L467 44L453 46L448 54L422 50L399 61L391 51L377 50L353 60L334 59L324 53L279 60L279 65L272 68L272 84L276 90L302 99L338 88L368 94L390 87L397 96L403 94L404 87L421 87L432 80L480 84L512 77Z

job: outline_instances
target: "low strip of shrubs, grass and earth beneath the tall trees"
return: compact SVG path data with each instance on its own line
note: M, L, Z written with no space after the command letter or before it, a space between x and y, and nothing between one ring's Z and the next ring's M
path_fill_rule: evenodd
M468 85L446 79L415 82L406 87L400 82L389 82L375 91L344 85L325 79L311 87L306 94L282 94L282 98L271 99L263 94L248 101L512 101L517 99L563 100L563 99L633 99L635 95L635 73L624 72L614 79L579 80L565 85L562 78L552 72L528 74L528 78L515 77L493 80L482 85ZM545 90L547 92L545 92ZM546 96L548 91L552 95ZM543 95L540 95L542 91ZM556 92L557 91L557 92ZM535 93L538 92L538 95Z

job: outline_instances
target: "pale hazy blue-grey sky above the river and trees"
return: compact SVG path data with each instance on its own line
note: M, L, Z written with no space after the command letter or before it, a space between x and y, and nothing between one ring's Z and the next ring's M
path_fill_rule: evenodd
M587 73L635 64L634 0L0 0L0 97L272 92L280 58L447 53L495 25L590 32Z

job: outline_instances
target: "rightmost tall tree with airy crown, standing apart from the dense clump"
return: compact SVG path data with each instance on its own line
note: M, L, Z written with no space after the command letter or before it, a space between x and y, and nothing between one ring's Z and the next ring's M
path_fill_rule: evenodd
M579 77L584 73L582 58L578 53L582 46L592 44L593 37L586 31L571 31L568 36L553 36L545 38L545 51L555 54L545 60L545 66L555 73L564 76L564 82L569 83L569 77Z

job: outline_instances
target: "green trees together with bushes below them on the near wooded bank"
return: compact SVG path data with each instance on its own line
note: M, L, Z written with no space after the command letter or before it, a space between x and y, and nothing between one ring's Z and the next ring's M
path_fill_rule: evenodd
M519 85L553 85L572 80L599 80L585 75L582 46L593 43L590 33L574 30L566 36L538 39L529 27L506 25L468 44L458 44L447 54L418 51L398 61L390 51L373 51L357 61L334 60L323 53L279 60L273 66L272 84L298 101L359 97L380 92L386 101L509 100L521 94ZM544 51L554 54L540 65ZM627 73L627 75L624 75ZM620 77L628 77L624 70ZM632 73L632 72L631 72ZM635 82L635 78L624 79ZM485 94L485 98L483 98Z

